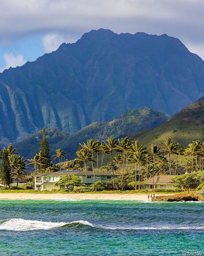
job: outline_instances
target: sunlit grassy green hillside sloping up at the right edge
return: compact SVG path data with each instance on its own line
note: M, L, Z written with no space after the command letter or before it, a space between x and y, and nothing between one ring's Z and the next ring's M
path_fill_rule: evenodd
M204 97L164 122L157 128L131 135L145 144L159 144L165 138L172 138L187 147L191 141L204 141Z

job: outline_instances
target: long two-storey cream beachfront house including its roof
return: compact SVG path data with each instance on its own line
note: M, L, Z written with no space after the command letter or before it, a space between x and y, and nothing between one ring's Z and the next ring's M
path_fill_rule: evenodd
M60 187L54 186L54 184L63 175L77 175L82 179L82 183L86 184L86 173L82 170L71 170L71 171L59 171L55 173L38 173L35 175L35 190L44 189L60 189ZM114 174L114 177L119 177L118 174ZM113 179L113 174L104 172L95 172L95 182L99 180L110 181ZM94 173L92 171L87 171L87 181L88 186L94 183Z

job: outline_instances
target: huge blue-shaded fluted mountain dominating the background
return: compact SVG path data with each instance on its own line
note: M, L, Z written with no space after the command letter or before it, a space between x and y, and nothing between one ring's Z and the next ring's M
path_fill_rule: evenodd
M91 30L0 74L0 146L54 127L69 134L129 109L173 115L204 95L204 61L177 38Z

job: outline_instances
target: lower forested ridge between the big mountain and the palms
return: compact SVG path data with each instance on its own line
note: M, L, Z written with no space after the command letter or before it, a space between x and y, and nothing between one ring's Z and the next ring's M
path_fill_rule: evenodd
M67 159L73 159L78 144L87 139L106 140L110 136L114 138L128 136L135 131L157 127L168 119L169 115L154 109L143 108L129 110L110 122L94 122L74 134L53 128L47 131L51 148L50 154L53 155L56 149L62 148L67 152ZM36 132L25 140L13 144L13 147L17 148L20 155L26 159L31 159L38 153L41 139L42 133Z

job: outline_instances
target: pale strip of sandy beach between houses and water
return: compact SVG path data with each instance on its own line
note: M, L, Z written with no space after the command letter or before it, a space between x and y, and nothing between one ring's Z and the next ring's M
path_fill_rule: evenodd
M172 194L156 194L172 195ZM57 199L82 199L82 200L148 200L148 194L30 194L30 193L0 193L0 200L57 200ZM151 199L150 199L151 200Z

